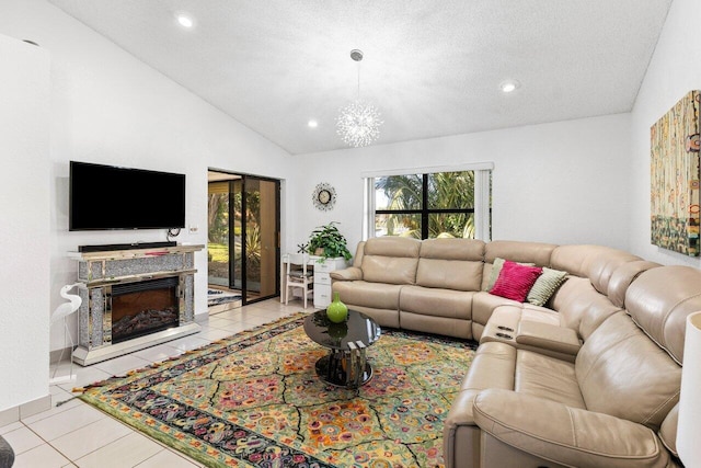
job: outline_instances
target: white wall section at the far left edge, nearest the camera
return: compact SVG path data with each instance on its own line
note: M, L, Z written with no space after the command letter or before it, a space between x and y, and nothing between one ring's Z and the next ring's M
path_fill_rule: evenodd
M4 35L0 57L2 412L48 395L49 58Z

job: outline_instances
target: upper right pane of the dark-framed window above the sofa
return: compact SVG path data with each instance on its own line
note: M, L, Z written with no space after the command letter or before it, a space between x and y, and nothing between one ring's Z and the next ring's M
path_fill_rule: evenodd
M474 171L428 174L428 208L474 208Z

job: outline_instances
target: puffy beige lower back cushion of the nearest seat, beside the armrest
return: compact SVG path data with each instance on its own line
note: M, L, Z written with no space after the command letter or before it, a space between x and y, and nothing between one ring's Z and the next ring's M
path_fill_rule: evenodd
M653 430L679 400L681 367L624 312L607 319L584 342L575 372L589 411Z

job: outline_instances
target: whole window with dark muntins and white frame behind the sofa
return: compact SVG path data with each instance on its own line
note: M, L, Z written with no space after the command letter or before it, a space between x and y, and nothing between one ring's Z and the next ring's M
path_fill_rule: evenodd
M492 168L366 178L366 238L489 240Z

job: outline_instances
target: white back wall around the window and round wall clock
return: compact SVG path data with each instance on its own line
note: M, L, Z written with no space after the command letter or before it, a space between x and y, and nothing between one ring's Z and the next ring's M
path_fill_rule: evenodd
M361 237L361 172L492 161L493 239L627 249L629 135L630 114L619 114L298 156L306 175L290 192L310 215L290 226L288 244L336 220L354 251ZM319 182L336 189L332 212L312 206Z

